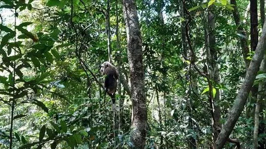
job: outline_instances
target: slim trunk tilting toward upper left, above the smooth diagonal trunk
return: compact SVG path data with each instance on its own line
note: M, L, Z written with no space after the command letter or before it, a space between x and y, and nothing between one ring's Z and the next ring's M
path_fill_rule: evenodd
M247 59L247 54L249 53L249 49L248 49L248 45L247 45L247 35L246 35L246 31L243 27L243 23L241 23L240 21L240 16L239 16L239 13L238 13L238 9L237 9L237 4L236 4L236 0L230 0L231 1L231 4L233 4L233 17L234 17L234 21L235 21L235 25L237 26L237 32L239 34L242 34L244 37L240 37L240 46L241 46L241 49L242 49L242 54L243 54L243 58L244 58L244 61L245 61L245 64L246 64L246 70L249 66L249 63L250 63L250 60Z

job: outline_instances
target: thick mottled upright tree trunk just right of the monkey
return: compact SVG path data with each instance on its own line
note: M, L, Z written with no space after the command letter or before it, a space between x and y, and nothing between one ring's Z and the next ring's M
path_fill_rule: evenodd
M132 95L131 141L133 148L144 149L147 132L147 109L142 62L142 41L134 0L123 0L123 14L126 22Z

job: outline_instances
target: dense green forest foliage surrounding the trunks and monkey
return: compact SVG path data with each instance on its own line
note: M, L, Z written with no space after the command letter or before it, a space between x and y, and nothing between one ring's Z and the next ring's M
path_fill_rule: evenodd
M214 92L220 89L217 104L224 123L246 74L239 44L243 35L237 33L229 1L210 1L214 2L209 5L213 5L216 15L215 48L220 73L220 83L213 83L213 87ZM103 103L104 79L99 66L108 60L106 0L73 0L73 9L71 2L0 1L0 148L9 148L10 136L14 148L131 147L131 101L123 85L121 94L116 95L122 102L122 118L115 137L111 99ZM136 0L148 108L147 148L188 149L191 139L196 140L198 148L208 148L212 141L208 82L184 60L181 36L181 24L187 24L191 17L191 46L197 67L205 71L208 2L186 0L189 14L185 18L179 14L180 2ZM248 31L248 12L244 11L248 1L237 4L243 8L238 10ZM113 63L128 81L120 0L111 0L110 21ZM116 25L119 36L115 34ZM257 84L265 81L266 75L262 74ZM252 147L254 120L248 111L255 103L248 101L231 134L243 149ZM266 134L260 133L259 140L266 140ZM226 148L233 149L234 144L228 143Z

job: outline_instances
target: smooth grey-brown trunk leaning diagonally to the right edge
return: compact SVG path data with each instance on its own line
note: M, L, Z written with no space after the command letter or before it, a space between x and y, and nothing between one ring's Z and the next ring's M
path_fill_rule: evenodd
M222 128L221 132L219 133L217 140L215 142L214 149L222 149L224 144L226 143L230 133L232 132L235 123L242 113L244 106L247 101L247 96L251 90L253 82L256 78L256 74L259 70L259 66L262 62L262 59L265 54L266 49L266 24L264 23L264 27L262 30L262 34L260 40L258 42L255 54L250 62L250 65L247 69L247 74L245 77L245 81L241 86L241 89L235 99L234 105L227 117L227 120Z

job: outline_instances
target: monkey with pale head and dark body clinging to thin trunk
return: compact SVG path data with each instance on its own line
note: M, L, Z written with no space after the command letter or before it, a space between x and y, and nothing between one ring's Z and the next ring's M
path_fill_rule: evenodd
M105 87L105 93L104 93L104 103L105 103L105 96L106 93L111 97L113 107L115 105L115 92L116 92L116 87L117 87L117 80L119 77L119 73L117 69L115 68L114 65L112 65L109 62L104 62L101 65L100 72L103 75L106 75L105 80L104 80L104 87Z

